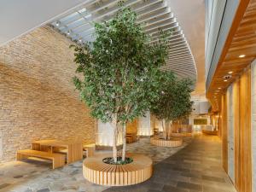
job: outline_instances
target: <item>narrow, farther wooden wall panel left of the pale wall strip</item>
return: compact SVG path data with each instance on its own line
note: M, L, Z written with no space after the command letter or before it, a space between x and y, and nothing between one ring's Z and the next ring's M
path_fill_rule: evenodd
M227 137L227 96L221 98L221 137L222 137L222 158L225 172L228 172L228 137Z

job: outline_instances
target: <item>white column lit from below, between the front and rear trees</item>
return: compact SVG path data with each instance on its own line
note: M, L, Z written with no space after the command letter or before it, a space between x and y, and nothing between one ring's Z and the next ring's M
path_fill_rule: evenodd
M137 135L152 136L154 133L153 120L150 117L150 112L145 113L145 117L138 118Z

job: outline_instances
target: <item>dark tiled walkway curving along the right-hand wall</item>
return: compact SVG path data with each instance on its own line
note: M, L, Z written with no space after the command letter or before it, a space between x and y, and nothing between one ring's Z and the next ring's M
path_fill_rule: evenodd
M147 182L112 187L105 192L234 192L221 163L221 143L216 136L195 136L177 154L154 165Z

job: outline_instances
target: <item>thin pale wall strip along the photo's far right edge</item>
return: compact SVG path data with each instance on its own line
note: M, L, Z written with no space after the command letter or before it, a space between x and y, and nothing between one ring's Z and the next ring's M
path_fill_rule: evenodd
M256 191L256 60L252 63L252 83L251 83L251 98L252 98L252 181L253 192Z

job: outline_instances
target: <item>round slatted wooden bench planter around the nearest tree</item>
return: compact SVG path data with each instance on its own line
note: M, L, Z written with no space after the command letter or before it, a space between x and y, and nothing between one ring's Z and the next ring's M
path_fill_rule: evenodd
M125 186L142 183L153 173L153 161L143 154L127 154L133 162L126 165L109 165L102 159L112 154L96 155L84 160L83 174L91 183L108 186Z

